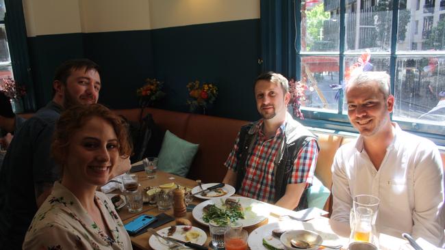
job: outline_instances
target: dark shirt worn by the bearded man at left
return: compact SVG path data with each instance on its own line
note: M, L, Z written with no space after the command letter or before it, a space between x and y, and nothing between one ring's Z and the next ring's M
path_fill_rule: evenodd
M34 184L58 180L60 172L50 156L55 102L40 109L15 133L0 170L0 248L22 249L23 239L37 212Z

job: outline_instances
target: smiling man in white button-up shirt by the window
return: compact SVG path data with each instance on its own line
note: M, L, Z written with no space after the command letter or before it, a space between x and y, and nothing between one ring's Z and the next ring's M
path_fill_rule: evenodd
M362 72L345 92L349 120L360 136L335 154L331 219L347 223L353 197L374 195L380 199L378 232L407 232L442 246L444 179L436 145L391 122L394 96L385 72Z

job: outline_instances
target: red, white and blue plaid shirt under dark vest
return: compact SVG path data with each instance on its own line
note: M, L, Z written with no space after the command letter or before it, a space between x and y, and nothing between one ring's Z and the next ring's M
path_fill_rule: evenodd
M275 200L275 157L278 148L284 139L285 123L278 129L274 137L267 139L263 133L264 120L259 120L255 126L256 137L252 152L249 152L246 165L246 175L242 181L239 195L258 199L262 202L273 203ZM237 164L236 154L238 154L238 141L240 133L236 137L235 146L229 154L229 158L224 165L233 169ZM294 168L288 184L312 183L314 176L318 148L316 139L307 142L296 156Z

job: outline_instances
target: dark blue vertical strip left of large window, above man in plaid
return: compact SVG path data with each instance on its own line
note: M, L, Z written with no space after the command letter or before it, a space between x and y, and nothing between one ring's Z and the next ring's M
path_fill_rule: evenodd
M262 71L275 71L288 79L297 76L296 50L300 15L294 0L261 0ZM298 44L296 43L298 42Z

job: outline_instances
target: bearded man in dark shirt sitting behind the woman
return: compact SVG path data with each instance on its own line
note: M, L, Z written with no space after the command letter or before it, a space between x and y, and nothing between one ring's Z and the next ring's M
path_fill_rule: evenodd
M64 62L55 71L53 100L17 131L0 170L0 246L21 249L34 214L60 171L50 154L55 122L73 105L97 102L99 66L88 59ZM122 160L125 161L125 160ZM127 162L129 165L129 160Z

